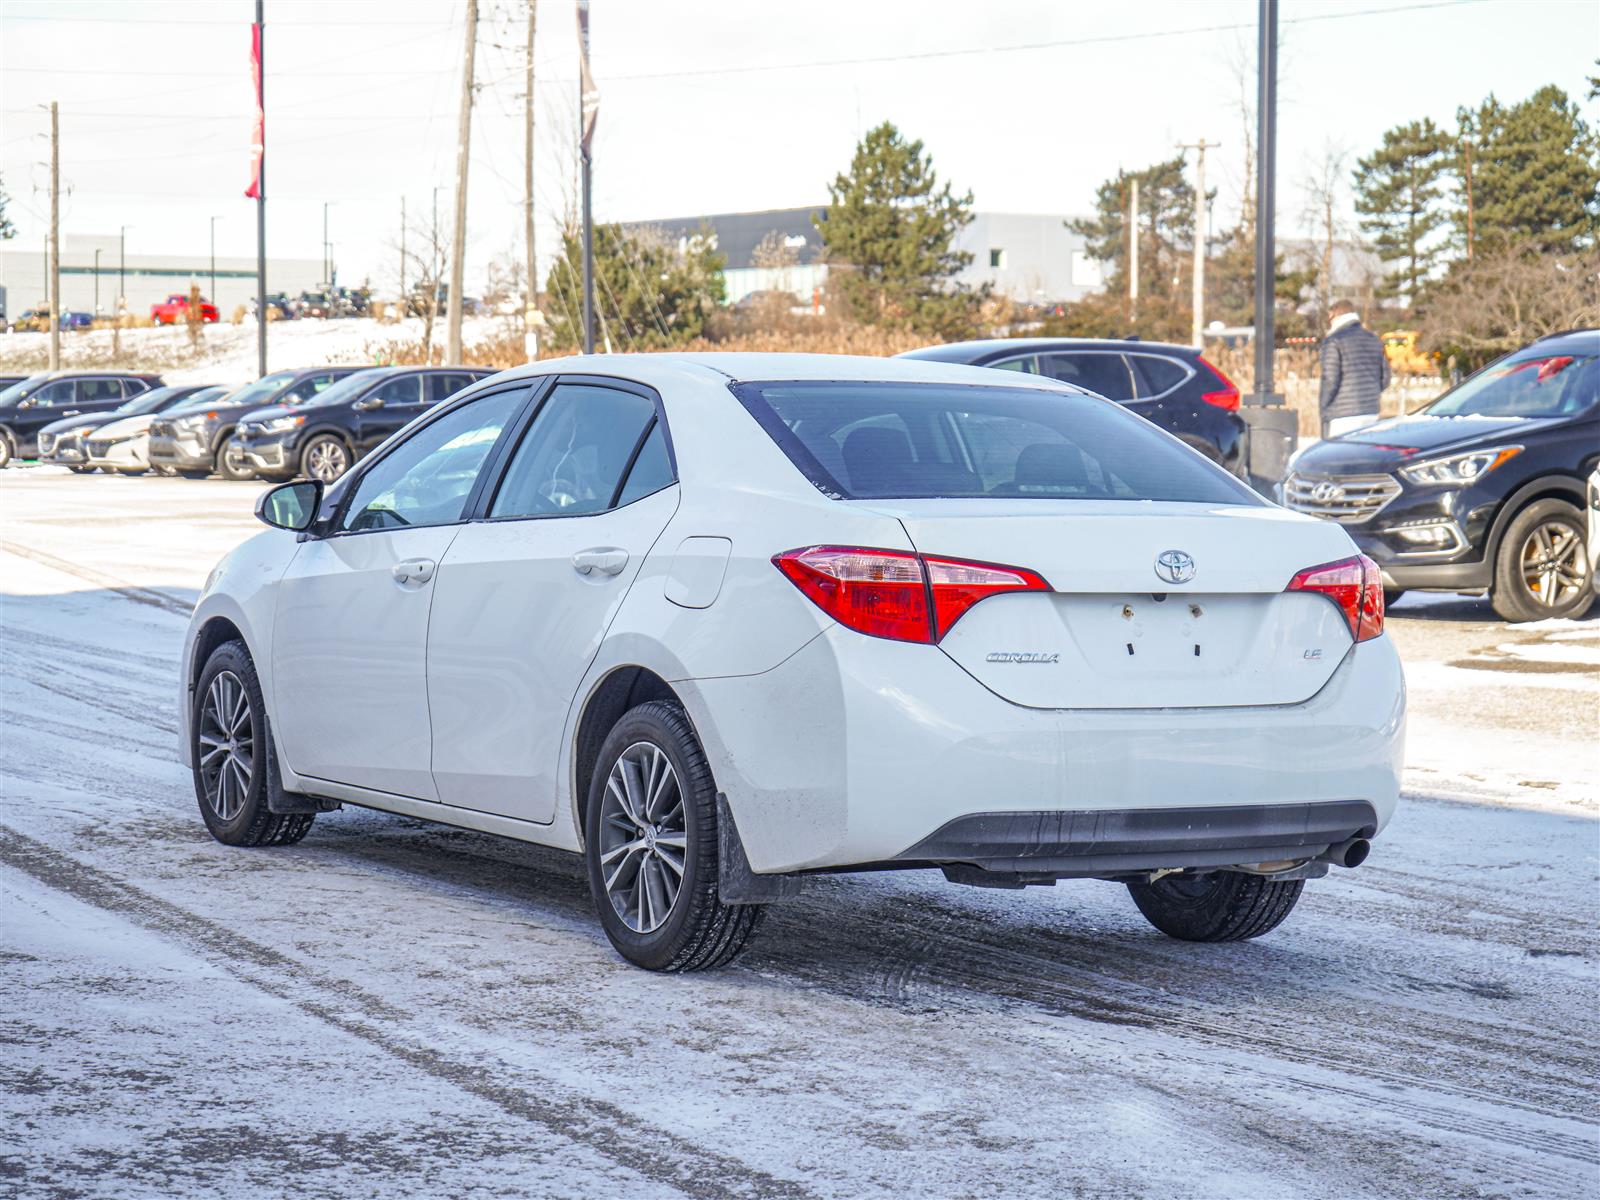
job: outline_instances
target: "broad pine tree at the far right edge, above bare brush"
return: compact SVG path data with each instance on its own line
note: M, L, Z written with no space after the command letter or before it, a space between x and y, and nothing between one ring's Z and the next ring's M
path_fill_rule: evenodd
M1525 245L1549 253L1594 246L1600 229L1600 147L1560 88L1510 107L1490 96L1461 109L1472 155L1477 246ZM1466 229L1466 214L1459 218Z

